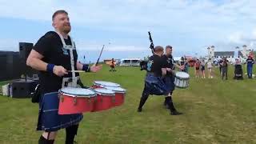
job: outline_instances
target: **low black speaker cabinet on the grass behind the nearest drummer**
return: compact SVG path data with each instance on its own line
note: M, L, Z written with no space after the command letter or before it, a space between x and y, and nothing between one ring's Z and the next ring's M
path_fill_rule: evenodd
M11 97L12 98L31 98L31 93L34 92L35 86L38 82L33 80L19 79L11 84Z

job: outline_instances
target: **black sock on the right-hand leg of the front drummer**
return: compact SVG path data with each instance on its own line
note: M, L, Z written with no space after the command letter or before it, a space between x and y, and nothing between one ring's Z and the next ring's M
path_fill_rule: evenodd
M74 144L74 136L78 134L78 125L66 128L66 144Z

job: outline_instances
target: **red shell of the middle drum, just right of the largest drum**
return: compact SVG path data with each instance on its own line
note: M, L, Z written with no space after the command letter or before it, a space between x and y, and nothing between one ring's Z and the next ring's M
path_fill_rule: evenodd
M97 93L92 112L109 110L114 106L114 94Z

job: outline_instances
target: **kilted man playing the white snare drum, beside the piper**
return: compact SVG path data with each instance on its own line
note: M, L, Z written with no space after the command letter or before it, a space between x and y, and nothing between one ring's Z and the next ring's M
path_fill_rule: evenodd
M183 66L174 65L174 58L172 56L172 46L166 46L166 54L162 55L162 62L163 67L166 67L166 77L164 78L164 82L166 84L166 87L168 88L168 94L166 94L164 106L166 106L167 109L170 109L170 114L172 115L179 115L182 114L178 112L175 107L174 103L172 101L171 95L173 94L173 91L175 89L174 85L174 66L177 66L179 70L182 70L184 68Z

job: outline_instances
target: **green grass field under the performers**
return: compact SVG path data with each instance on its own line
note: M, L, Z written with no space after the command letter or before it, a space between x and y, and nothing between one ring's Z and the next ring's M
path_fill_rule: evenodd
M190 87L174 90L174 104L184 113L178 116L162 106L161 96L151 96L138 113L145 71L138 67L117 70L109 72L104 66L97 74L81 74L87 86L94 80L117 82L127 94L123 106L84 114L78 143L256 143L256 82L245 77L233 80L231 66L227 81L220 79L217 69L213 79L196 79L190 70ZM37 119L38 104L30 99L0 96L0 143L38 143ZM64 138L65 130L60 130L55 143L64 143Z

